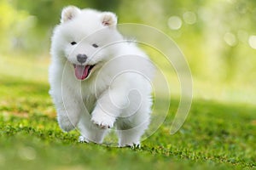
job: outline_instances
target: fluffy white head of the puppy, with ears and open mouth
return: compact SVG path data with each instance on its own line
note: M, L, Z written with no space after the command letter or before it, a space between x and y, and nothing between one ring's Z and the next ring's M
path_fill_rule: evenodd
M63 8L61 24L55 27L51 53L67 59L79 80L90 77L112 54L111 44L121 38L116 30L117 17L111 12Z

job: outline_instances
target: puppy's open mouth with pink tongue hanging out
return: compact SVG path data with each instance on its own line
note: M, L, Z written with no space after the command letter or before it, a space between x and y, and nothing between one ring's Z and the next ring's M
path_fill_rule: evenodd
M95 65L73 65L75 69L75 76L79 80L84 80L89 77L90 71L93 69Z

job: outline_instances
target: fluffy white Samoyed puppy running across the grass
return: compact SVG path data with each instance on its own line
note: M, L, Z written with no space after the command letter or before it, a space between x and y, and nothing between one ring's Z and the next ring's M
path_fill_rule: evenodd
M151 112L154 66L117 30L117 17L63 8L51 43L49 83L61 129L101 144L115 125L119 147L139 145Z

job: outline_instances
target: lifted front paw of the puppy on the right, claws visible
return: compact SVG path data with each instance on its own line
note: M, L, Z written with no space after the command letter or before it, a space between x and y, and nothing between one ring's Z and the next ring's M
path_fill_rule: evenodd
M115 117L108 116L107 114L92 114L91 122L93 122L97 127L102 129L107 129L113 127L115 122Z

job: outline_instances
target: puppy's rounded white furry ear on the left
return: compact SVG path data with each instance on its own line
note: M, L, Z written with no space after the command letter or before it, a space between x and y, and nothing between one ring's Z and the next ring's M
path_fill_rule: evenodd
M79 14L80 9L75 6L68 6L62 9L61 12L61 23L66 22L67 20L73 20L73 18Z

